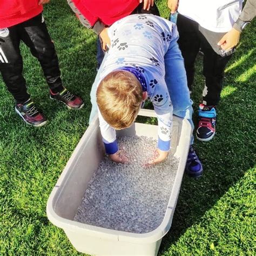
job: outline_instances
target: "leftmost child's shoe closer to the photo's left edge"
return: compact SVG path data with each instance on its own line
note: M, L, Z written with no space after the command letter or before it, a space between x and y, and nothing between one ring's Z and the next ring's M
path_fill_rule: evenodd
M47 119L36 109L36 106L31 99L22 104L17 104L15 106L15 111L26 124L38 127L47 123Z

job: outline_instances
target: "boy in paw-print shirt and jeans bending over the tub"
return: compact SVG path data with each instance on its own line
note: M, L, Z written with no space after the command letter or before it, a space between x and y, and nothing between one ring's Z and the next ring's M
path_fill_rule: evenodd
M170 150L172 115L186 118L193 127L192 100L176 25L154 15L131 15L114 23L108 31L111 46L92 86L90 122L98 105L106 153L122 163L116 130L131 126L149 97L158 117L159 154L152 163L159 163ZM192 144L193 137L186 172L198 177L203 167Z

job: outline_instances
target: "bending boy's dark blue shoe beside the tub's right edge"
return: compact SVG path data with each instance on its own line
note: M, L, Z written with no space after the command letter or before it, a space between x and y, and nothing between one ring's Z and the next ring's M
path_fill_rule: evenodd
M203 175L203 166L197 156L196 151L194 151L193 146L190 146L190 150L188 151L185 171L188 176L193 178L199 178Z

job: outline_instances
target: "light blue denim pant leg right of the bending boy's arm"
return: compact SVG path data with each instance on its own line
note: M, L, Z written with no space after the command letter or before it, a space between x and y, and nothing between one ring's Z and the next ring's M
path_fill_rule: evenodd
M165 60L165 82L169 90L170 98L173 105L173 114L188 120L194 129L192 121L192 100L187 87L186 70L184 59L181 56L177 38L171 42L168 51L164 57ZM193 135L190 144L194 142Z

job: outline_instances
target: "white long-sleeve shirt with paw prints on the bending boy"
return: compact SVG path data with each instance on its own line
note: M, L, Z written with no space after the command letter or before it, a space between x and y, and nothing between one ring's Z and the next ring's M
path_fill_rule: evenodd
M168 151L173 108L165 83L164 56L171 41L178 37L176 25L154 15L131 15L114 23L108 33L111 48L99 83L111 71L124 66L132 66L142 73L146 79L146 91L158 118L158 148ZM116 131L98 112L106 152L117 152Z

